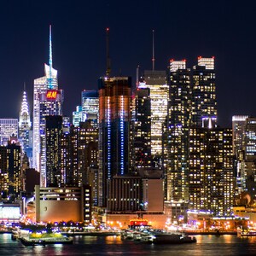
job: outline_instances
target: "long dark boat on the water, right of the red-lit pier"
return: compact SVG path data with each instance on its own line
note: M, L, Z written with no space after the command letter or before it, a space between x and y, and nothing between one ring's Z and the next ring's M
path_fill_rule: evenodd
M154 234L153 243L192 243L196 242L195 236L187 236L179 233L158 233Z

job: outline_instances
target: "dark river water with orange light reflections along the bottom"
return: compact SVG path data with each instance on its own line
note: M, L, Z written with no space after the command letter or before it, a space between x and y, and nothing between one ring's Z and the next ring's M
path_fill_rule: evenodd
M75 236L71 245L25 247L12 241L10 234L0 234L0 255L175 255L223 256L255 255L256 236L196 236L193 244L153 245L122 241L120 236Z

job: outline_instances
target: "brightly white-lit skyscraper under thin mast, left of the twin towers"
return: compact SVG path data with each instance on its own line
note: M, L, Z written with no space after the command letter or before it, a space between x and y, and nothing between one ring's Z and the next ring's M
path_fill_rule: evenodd
M169 86L166 84L166 72L146 70L144 81L138 88L148 88L151 105L151 155L153 165L162 166L162 128L167 116L167 103L169 98Z

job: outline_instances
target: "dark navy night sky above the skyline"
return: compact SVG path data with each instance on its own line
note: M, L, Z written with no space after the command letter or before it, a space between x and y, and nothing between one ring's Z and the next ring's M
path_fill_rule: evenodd
M237 1L236 1L237 2ZM0 118L19 118L26 83L32 115L33 79L44 76L52 25L53 67L65 91L64 114L97 89L106 71L110 29L112 76L131 76L137 65L166 70L170 59L215 56L218 124L235 114L256 116L256 8L253 1L9 0L0 1Z

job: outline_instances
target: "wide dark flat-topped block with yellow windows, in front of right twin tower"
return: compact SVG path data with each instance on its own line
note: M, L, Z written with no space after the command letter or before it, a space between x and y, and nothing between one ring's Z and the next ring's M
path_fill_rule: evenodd
M189 209L230 216L235 175L230 128L189 131Z

